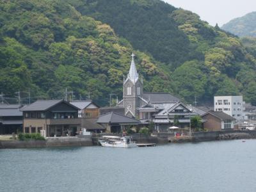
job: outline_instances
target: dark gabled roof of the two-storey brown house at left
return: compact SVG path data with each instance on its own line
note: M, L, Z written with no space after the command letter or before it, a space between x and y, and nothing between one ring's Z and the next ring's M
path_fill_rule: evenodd
M57 104L65 102L69 106L72 106L73 108L77 108L76 106L73 106L72 104L66 102L65 100L36 100L36 102L33 102L33 104L26 106L21 111L46 111L47 109L52 108L53 106L56 106Z

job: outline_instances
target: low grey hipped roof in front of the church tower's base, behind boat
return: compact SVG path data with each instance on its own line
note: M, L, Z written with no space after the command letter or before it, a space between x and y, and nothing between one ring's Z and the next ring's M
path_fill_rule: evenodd
M98 124L139 124L140 121L130 118L128 116L120 115L118 113L106 113L104 115L100 115L98 120Z

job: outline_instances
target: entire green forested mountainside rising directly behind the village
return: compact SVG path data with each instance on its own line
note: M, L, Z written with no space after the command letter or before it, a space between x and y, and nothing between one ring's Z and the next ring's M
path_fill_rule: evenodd
M0 92L107 104L122 97L135 50L147 92L186 102L237 95L256 102L255 54L198 15L159 0L20 0L0 4ZM137 51L136 51L137 50Z

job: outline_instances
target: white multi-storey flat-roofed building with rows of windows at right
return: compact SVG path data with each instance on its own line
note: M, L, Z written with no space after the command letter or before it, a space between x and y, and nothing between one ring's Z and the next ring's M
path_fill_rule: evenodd
M243 104L243 96L214 97L214 111L223 111L237 120L245 120Z

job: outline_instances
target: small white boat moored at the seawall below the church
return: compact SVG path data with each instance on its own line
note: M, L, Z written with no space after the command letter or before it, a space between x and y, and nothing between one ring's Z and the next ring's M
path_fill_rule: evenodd
M132 138L129 136L124 136L119 138L119 140L113 137L109 137L107 140L99 140L99 143L102 147L124 147L124 148L132 148L138 147Z

